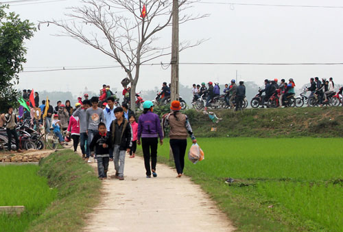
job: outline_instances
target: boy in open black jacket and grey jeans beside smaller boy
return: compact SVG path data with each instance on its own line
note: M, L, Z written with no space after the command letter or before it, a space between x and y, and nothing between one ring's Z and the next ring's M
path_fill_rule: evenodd
M124 180L124 165L126 152L132 146L132 133L129 121L123 116L123 108L115 108L116 119L110 124L111 143L113 145L113 158L115 161L115 176L119 181Z

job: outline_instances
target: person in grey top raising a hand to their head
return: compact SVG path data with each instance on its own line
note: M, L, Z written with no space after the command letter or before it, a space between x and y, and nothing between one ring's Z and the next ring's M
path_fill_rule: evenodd
M78 103L80 104L80 103ZM80 121L80 147L81 147L81 152L82 152L82 159L85 159L88 161L89 159L89 146L88 144L91 143L91 141L88 140L88 135L87 135L87 119L86 119L86 111L88 108L91 107L91 101L89 100L84 100L82 102L82 107L79 107L74 111L73 116L74 117L79 117ZM86 146L86 148L85 148Z

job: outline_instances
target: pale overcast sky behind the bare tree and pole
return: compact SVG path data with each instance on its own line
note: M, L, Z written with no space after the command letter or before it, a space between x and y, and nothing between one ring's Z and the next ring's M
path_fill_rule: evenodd
M192 12L211 14L206 19L192 21L180 28L180 40L209 38L206 43L180 53L180 62L343 62L343 8L286 8L252 5L220 5L214 2L265 3L287 5L336 5L340 0L207 0L198 3ZM51 19L66 19L66 8L80 5L77 0L40 4L11 5L10 9L34 23ZM232 10L233 8L233 10ZM171 43L171 28L160 34L164 43ZM68 37L56 37L60 29L41 25L27 41L25 71L42 67L91 67L117 65L101 52ZM170 58L164 58L168 62ZM154 60L155 63L162 59ZM48 69L49 69L48 68ZM301 86L310 77L333 77L342 83L342 65L334 66L266 66L266 65L180 65L180 82L218 81L235 78L263 84L265 78L294 78ZM84 71L54 71L21 73L19 88L35 91L71 91L78 94L87 86L97 91L102 84L121 89L123 69ZM138 91L154 89L170 80L170 69L161 66L143 67Z

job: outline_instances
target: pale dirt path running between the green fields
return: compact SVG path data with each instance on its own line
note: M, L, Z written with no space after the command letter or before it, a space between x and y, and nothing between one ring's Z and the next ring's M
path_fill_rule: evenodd
M96 167L97 163L91 163ZM109 174L115 174L110 163ZM157 165L157 178L145 178L143 159L126 156L125 181L103 182L104 196L88 215L84 231L233 231L234 227L190 178Z

